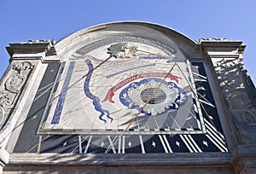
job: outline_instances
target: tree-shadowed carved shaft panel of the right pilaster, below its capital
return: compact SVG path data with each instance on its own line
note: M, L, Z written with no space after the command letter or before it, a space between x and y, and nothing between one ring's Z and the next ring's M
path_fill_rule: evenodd
M218 82L234 121L234 135L238 143L255 143L256 126L255 89L248 84L249 77L243 61L236 57L212 59Z

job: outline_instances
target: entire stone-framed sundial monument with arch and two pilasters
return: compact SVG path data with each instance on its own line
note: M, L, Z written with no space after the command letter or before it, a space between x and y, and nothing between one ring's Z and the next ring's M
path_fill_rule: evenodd
M7 49L0 173L255 168L255 92L241 41L196 42L122 21Z

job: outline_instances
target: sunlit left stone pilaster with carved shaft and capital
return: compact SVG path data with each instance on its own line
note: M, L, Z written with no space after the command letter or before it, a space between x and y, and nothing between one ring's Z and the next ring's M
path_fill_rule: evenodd
M11 43L7 47L10 64L0 81L0 173L9 162L6 143L17 129L17 120L30 108L25 100L33 93L35 95L32 89L36 89L38 83L34 84L34 81L39 74L44 74L40 72L42 63L57 61L54 43L54 40L39 40Z

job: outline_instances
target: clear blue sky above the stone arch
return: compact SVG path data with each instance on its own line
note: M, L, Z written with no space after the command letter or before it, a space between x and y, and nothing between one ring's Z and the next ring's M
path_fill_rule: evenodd
M200 38L241 40L244 62L256 84L256 1L254 0L1 0L0 77L9 66L9 43L59 41L84 27L111 21L141 20ZM254 41L254 42L253 42Z

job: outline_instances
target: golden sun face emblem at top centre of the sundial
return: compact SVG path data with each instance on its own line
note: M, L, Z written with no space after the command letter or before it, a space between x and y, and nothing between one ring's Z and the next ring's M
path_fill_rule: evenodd
M128 43L112 44L108 48L108 54L115 58L131 58L137 55L137 46Z

